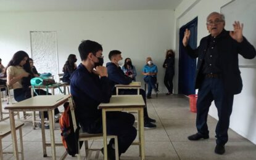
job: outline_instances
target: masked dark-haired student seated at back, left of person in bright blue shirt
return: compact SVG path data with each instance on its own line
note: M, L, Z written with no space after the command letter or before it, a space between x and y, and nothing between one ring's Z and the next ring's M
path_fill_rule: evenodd
M131 63L131 58L125 58L125 65L122 66L123 73L125 73L126 76L129 76L133 81L136 81L136 68Z

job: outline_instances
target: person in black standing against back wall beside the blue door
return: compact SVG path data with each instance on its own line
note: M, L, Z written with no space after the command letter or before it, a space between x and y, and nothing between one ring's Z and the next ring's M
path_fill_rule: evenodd
M168 89L168 93L166 95L173 94L174 60L175 53L173 52L173 50L167 50L165 54L165 62L163 62L163 68L166 69L163 82Z

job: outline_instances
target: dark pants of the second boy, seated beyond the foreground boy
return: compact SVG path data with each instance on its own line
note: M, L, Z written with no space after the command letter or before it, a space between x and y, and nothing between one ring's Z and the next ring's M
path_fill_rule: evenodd
M137 95L138 90L137 89L119 89L118 92L119 95ZM139 94L142 95L142 98L145 103L145 107L143 108L144 113L144 121L147 122L149 118L149 114L147 114L147 102L146 102L146 92L143 89L139 89Z

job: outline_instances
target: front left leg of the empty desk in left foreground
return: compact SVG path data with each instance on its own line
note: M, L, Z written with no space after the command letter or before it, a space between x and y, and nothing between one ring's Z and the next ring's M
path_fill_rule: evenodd
M10 132L12 132L12 148L14 149L14 159L19 160L14 111L9 110L9 116L10 116Z

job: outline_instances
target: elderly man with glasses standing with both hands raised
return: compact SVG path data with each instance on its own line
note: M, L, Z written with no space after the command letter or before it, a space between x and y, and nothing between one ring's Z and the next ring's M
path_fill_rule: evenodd
M197 99L197 133L190 135L189 140L209 138L207 115L214 100L218 110L216 127L215 153L225 153L228 142L229 118L232 113L233 98L242 90L242 79L238 66L238 54L247 59L255 57L254 47L242 36L243 24L234 22L234 31L226 31L225 17L212 12L207 17L207 30L210 35L201 39L197 49L188 45L190 31L186 29L183 46L192 58L197 58L196 89Z

